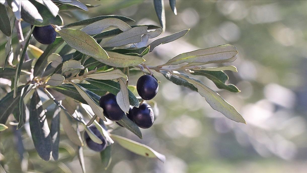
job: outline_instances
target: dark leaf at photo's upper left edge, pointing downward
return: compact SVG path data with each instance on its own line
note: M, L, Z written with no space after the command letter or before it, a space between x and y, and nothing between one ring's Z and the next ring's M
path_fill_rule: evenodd
M10 37L12 34L12 28L10 25L8 25L8 23L10 23L10 18L7 14L6 7L0 4L0 30L3 34Z

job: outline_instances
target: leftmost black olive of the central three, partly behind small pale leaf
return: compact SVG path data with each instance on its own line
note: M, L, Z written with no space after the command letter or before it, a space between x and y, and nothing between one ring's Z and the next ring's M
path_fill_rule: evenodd
M103 114L112 121L119 121L125 115L116 102L116 96L112 93L104 95L99 100L99 106L103 108Z

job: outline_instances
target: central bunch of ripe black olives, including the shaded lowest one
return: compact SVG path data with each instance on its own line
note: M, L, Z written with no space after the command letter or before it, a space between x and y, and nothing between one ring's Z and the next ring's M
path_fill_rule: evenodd
M158 92L158 82L151 75L143 75L138 79L137 91L138 95L144 100L153 99ZM99 100L99 106L103 108L103 114L108 119L115 121L119 126L123 127L119 122L123 116L127 116L131 121L133 121L138 127L147 129L153 125L154 115L153 109L147 103L140 104L139 107L132 107L128 113L123 112L116 102L116 96L112 93L104 95ZM87 146L94 151L103 151L107 144L106 139L99 133L95 126L90 127L91 130L97 135L102 141L102 144L93 142L87 132L84 133L84 138Z

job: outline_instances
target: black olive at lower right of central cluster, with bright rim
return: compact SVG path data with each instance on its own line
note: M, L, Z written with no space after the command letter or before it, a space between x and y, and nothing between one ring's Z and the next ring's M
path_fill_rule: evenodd
M133 121L138 127L147 129L153 125L153 109L149 104L142 103L139 107L134 107L131 111Z

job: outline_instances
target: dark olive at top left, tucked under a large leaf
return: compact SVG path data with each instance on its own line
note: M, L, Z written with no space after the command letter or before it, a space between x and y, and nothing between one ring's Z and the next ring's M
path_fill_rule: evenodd
M51 25L35 26L32 34L41 44L52 44L56 39L56 31Z

